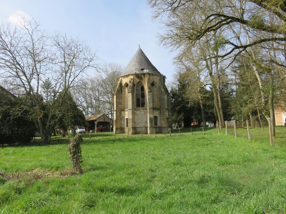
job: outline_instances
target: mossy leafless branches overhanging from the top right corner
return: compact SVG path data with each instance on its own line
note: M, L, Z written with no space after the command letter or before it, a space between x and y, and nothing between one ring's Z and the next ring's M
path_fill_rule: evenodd
M236 50L239 54L264 42L286 41L286 5L283 0L149 0L149 5L154 8L154 18L162 18L163 23L172 29L162 36L164 44L180 46L185 42L194 46L206 34L215 35L230 24L236 29L246 27L249 31L259 32L263 37L238 44L229 34L224 41L229 48L219 57L226 57ZM274 21L270 21L269 16Z

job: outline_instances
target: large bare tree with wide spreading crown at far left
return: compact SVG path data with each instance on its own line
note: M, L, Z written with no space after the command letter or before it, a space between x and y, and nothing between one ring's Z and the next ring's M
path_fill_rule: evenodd
M18 95L24 95L19 105L29 110L29 118L45 143L50 142L59 115L60 108L55 109L61 103L57 99L59 92L66 93L76 86L79 76L94 67L96 59L96 54L78 39L59 34L48 37L36 20L22 19L14 29L9 23L0 26L1 78L18 88ZM44 100L45 94L49 95L48 102ZM13 116L17 116L17 108L12 110Z

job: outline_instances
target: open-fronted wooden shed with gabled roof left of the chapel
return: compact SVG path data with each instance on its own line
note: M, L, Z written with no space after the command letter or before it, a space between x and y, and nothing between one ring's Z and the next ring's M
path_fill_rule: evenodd
M111 118L106 114L96 114L86 117L86 131L95 132L111 131Z

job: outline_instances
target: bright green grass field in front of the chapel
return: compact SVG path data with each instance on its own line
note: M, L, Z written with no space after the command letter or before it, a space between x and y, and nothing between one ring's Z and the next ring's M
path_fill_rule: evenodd
M0 213L285 213L286 128L251 132L85 134L80 176L67 139L3 147Z

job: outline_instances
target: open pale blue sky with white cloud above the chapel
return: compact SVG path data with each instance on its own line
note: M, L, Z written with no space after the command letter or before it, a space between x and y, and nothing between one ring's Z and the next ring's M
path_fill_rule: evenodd
M174 53L159 45L162 24L152 20L146 0L0 0L0 20L16 24L24 16L39 20L48 34L67 33L87 42L101 62L125 68L138 49L171 81Z

